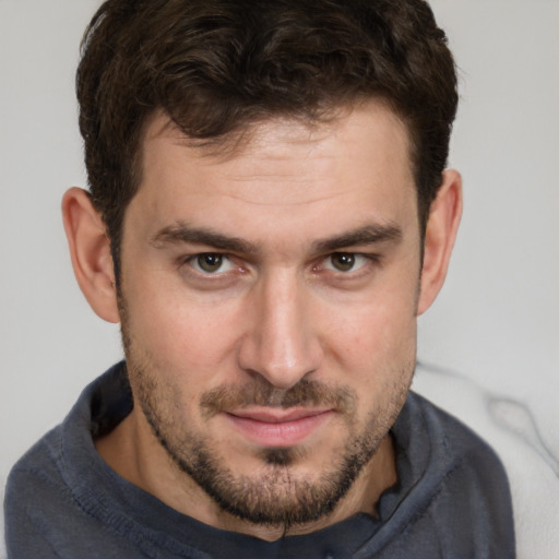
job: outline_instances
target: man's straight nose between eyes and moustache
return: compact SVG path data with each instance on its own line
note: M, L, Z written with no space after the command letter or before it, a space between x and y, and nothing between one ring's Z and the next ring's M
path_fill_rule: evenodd
M322 362L319 325L302 283L284 270L259 282L250 297L239 365L278 389L294 386Z

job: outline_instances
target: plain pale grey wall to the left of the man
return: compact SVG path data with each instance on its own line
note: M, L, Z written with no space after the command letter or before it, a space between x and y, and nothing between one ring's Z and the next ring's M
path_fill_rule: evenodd
M75 284L60 219L84 186L73 82L97 0L0 0L0 484L120 355Z

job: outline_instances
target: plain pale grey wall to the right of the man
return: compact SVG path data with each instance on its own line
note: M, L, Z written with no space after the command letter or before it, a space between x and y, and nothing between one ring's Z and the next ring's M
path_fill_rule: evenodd
M524 400L559 456L559 1L431 4L461 69L465 210L419 356Z

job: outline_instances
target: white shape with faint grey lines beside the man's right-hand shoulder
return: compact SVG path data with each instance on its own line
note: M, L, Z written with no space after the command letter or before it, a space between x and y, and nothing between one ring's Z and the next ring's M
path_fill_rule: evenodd
M519 557L555 558L559 545L559 459L554 426L535 402L493 391L468 376L418 364L414 389L479 433L510 483Z

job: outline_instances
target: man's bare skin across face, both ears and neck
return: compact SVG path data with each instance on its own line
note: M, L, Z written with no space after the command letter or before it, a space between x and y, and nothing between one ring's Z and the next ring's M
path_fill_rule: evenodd
M80 189L63 200L80 286L102 318L122 321L136 403L96 441L99 454L174 509L263 539L374 514L397 479L388 431L461 204L460 176L447 170L421 263L407 131L379 102L312 127L260 123L227 155L189 145L156 115L124 217L120 298L103 221ZM226 396L210 409L216 391ZM332 511L259 523L224 510L187 473L195 443L226 486L248 484L264 509L325 485L341 456L373 455L360 456Z

